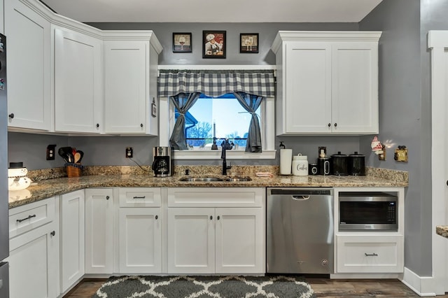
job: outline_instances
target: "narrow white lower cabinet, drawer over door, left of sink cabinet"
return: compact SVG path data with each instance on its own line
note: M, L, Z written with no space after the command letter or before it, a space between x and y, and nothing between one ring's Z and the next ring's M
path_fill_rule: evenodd
M119 272L162 272L162 208L160 188L120 188Z

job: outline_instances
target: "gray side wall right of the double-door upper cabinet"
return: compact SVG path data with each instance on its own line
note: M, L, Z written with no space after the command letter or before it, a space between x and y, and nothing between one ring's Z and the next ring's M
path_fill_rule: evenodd
M384 0L360 22L360 29L383 31L379 45L379 139L391 145L386 162L373 158L369 163L409 172L405 266L419 276L431 276L430 100L427 92L421 96L422 81L429 74L422 76L421 72L421 49L426 40L420 33L420 1ZM407 146L409 162L393 159L393 149L399 145Z

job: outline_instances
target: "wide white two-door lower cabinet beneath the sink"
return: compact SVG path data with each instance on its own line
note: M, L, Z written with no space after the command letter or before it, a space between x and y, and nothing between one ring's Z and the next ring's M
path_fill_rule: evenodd
M264 273L264 207L264 188L170 188L168 273Z

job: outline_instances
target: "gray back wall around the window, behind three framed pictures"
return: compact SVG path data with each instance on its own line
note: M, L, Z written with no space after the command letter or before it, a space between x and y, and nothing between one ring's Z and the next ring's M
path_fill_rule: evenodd
M356 31L357 23L97 23L92 24L100 29L151 29L162 43L164 50L159 56L159 64L260 64L274 65L275 56L270 50L272 42L279 30L328 30L328 31ZM227 57L226 59L202 59L202 30L227 31ZM193 52L172 52L173 32L192 32ZM239 34L259 33L260 51L258 54L239 53ZM27 169L48 169L63 166L64 162L58 155L54 161L45 160L45 151L48 144L72 146L83 150L84 165L135 165L125 158L125 148L134 148L134 160L139 164L148 165L152 162L152 148L157 146L158 138L153 136L45 136L25 133L8 134L8 160L23 161ZM351 154L358 151L370 155L370 147L360 150L358 136L303 136L279 137L294 154L307 155L309 162L315 162L318 146L327 146L328 154L341 151ZM367 138L368 146L372 137ZM57 149L56 148L56 149ZM211 164L218 165L221 160L181 160L176 164ZM278 164L276 159L235 160L234 164Z

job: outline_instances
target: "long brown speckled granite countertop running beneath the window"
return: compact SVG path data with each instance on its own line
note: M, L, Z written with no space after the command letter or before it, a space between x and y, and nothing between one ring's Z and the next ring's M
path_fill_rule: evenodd
M190 166L191 168L191 166ZM102 171L103 174L97 173L88 176L80 176L75 178L48 178L45 180L37 180L32 183L26 190L9 192L9 208L15 208L25 204L29 204L41 199L47 199L59 194L65 194L84 188L93 187L406 187L407 180L393 179L390 176L378 175L367 176L279 176L274 174L271 177L258 177L255 175L256 170L239 171L239 175L250 177L251 181L214 181L214 182L182 182L179 178L185 175L176 174L175 176L165 178L155 178L148 173L134 173L132 171ZM184 171L179 171L184 173ZM213 173L207 176L225 177ZM275 169L272 173L276 173ZM41 173L39 173L41 174ZM235 173L230 173L230 175ZM191 177L206 176L203 171L193 170Z

